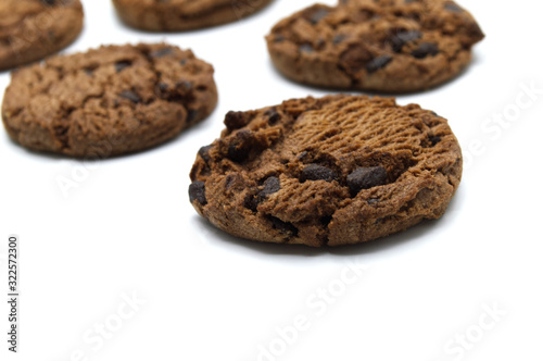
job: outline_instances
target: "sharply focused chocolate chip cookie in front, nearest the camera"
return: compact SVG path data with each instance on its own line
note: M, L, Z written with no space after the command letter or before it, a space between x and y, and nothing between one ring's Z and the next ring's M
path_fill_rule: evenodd
M446 120L394 99L332 96L229 112L200 149L190 202L235 236L340 246L438 219L462 152Z

